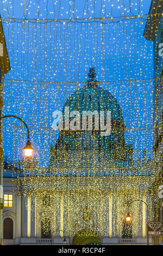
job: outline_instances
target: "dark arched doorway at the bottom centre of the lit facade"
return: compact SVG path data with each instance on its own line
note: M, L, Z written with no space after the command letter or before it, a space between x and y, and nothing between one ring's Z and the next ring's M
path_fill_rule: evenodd
M73 237L73 245L101 245L99 235L91 229L81 229Z

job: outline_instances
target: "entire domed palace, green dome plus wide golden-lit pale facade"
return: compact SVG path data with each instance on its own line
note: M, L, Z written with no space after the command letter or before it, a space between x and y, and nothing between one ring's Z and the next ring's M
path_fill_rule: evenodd
M51 146L46 171L35 168L33 174L25 166L26 170L15 171L14 181L11 167L4 172L8 207L4 207L3 219L12 219L8 226L13 229L7 239L3 227L3 243L51 243L52 232L53 243L62 243L63 231L67 243L73 245L146 243L146 208L141 202L129 205L141 199L151 206L151 162L145 152L142 162L133 162L133 145L124 139L120 105L98 86L95 76L95 69L90 69L90 80L67 99L62 114L65 107L80 114L109 110L110 135L102 136L101 129L95 129L95 118L92 130L66 130L64 116L64 129ZM125 222L128 212L129 225Z

